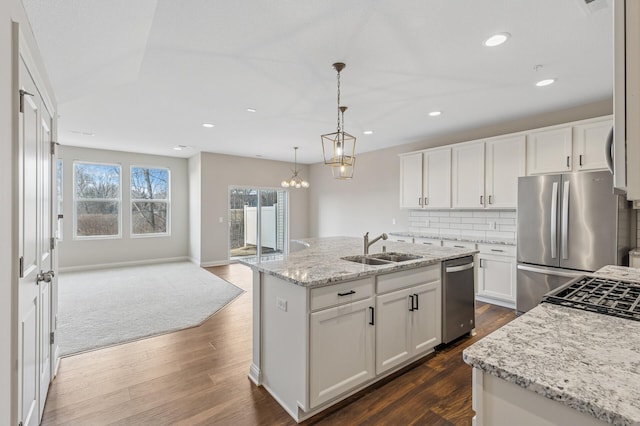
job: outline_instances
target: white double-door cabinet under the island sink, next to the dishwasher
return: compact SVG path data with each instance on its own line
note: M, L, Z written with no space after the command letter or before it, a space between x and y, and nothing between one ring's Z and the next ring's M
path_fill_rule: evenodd
M376 374L441 343L439 268L440 265L433 265L378 277L381 294L376 296ZM398 289L420 281L422 284Z

